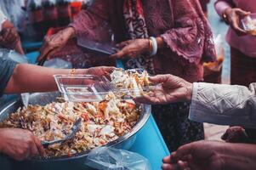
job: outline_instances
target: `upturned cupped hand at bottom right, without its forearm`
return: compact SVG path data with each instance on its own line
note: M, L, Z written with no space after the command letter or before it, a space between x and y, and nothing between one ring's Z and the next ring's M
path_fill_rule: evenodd
M163 158L162 170L221 170L225 164L222 151L221 142L202 140L185 144Z

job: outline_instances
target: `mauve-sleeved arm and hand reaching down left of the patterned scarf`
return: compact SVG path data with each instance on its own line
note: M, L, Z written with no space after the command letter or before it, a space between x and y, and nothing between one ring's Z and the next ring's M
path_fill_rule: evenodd
M87 10L82 10L79 13L67 28L51 37L45 37L40 49L41 54L37 60L41 61L45 57L49 58L65 47L65 44L73 37L99 37L95 31L104 21L109 20L108 6L109 1L107 0L95 0Z

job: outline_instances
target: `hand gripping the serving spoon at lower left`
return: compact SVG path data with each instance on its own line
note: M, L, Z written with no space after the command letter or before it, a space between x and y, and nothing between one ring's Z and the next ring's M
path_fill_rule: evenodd
M19 128L0 128L0 151L17 161L44 156L43 146L30 131Z

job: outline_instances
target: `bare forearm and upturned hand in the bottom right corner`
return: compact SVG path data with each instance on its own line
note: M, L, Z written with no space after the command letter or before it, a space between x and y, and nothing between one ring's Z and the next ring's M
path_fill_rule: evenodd
M254 144L198 141L163 158L163 170L250 170L256 168Z

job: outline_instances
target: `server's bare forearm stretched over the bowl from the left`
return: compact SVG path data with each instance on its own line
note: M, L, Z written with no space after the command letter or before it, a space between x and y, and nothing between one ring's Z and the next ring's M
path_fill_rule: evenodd
M47 92L57 90L54 74L70 74L71 70L50 69L37 65L17 65L5 93ZM82 70L77 70L77 74Z

